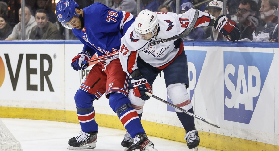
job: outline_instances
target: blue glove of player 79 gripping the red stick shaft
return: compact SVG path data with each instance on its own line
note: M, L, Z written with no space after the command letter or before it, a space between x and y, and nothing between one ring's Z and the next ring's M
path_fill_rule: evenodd
M82 61L84 60L88 60L88 59L91 59L91 56L90 54L87 52L87 51L82 51L80 53L77 54L77 56L75 56L73 59L72 59L72 67L74 70L84 70L88 67L88 63L86 64L81 64Z

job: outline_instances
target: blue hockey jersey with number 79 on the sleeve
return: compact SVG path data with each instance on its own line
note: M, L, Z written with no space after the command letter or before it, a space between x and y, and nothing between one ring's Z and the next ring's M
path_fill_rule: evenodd
M84 28L73 29L73 34L84 44L83 51L98 56L119 51L120 38L134 22L135 18L128 12L118 12L101 4L94 3L83 10ZM118 55L103 59L111 61Z

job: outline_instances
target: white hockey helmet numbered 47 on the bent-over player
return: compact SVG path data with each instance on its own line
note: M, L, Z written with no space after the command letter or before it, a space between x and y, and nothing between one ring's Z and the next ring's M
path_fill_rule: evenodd
M158 17L155 12L150 10L142 10L139 12L137 18L135 18L135 32L139 35L148 34L149 32L152 33L152 36L155 35L158 27Z

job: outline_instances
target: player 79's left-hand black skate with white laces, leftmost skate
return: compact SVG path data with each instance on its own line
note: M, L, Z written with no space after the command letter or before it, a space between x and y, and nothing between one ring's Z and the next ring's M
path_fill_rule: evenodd
M94 149L96 147L95 143L97 142L97 133L98 131L87 133L81 131L81 135L73 137L69 140L68 149Z

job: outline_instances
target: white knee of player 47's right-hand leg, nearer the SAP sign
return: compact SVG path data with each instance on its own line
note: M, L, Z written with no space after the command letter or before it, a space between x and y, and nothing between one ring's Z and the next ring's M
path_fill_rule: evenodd
M186 111L188 111L193 107L193 104L191 103L185 84L182 83L170 84L167 87L167 92L168 92L169 100L171 100L174 105L183 108ZM182 111L176 108L175 111L182 113Z

